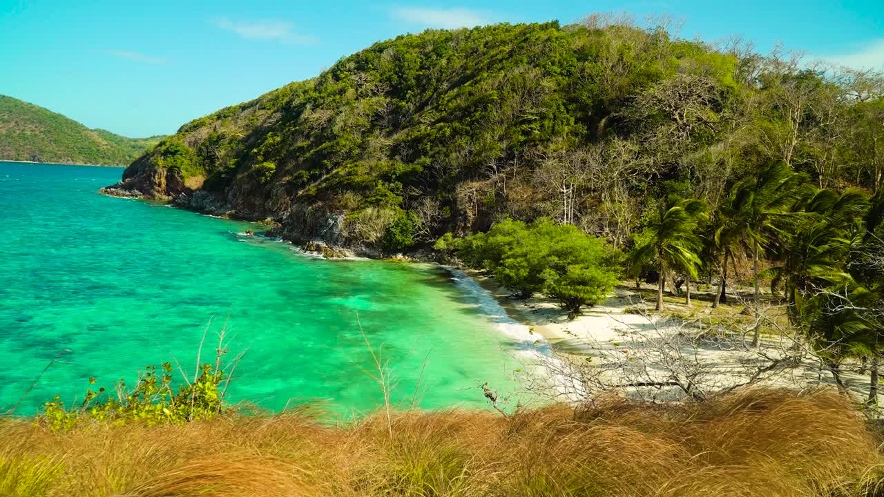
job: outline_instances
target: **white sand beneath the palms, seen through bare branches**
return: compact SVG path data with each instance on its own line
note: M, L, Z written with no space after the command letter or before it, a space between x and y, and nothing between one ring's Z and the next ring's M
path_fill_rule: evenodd
M522 300L510 296L510 292L495 284L492 279L480 276L475 271L469 272L469 276L492 294L507 310L507 313L515 321L529 327L529 337L522 336L525 340L534 340L539 335L548 342L554 351L552 358L547 358L544 363L553 376L562 375L562 361L573 360L581 357L585 361L586 356L598 357L597 363L604 362L609 367L623 365L617 368L621 371L621 377L634 375L635 371L626 371L632 363L619 360L624 357L635 356L636 359L644 359L645 362L659 358L661 343L671 346L679 333L687 333L691 336L704 335L709 330L705 325L704 317L708 315L708 302L695 302L690 311L697 315L697 322L685 327L679 320L661 320L653 311L653 302L641 302L636 298L636 292L628 288L619 287L603 305L598 305L583 311L583 315L571 319L568 313L561 310L556 302L543 296L535 296ZM650 304L650 305L649 305ZM647 309L646 315L634 313L636 307ZM633 312L624 312L633 308ZM683 304L669 304L667 310L673 312L685 312L688 310ZM707 321L708 322L708 321ZM516 328L510 326L510 333ZM746 330L748 331L748 330ZM742 335L742 336L741 336ZM745 336L745 339L743 337ZM539 338L537 337L537 338ZM762 340L760 349L748 347L748 336L743 333L728 333L725 338L719 336L710 340L704 340L700 347L689 345L678 352L668 348L662 354L682 354L680 360L684 361L687 368L702 369L699 376L709 391L727 388L746 382L751 375L758 371L759 367L771 363L773 360L791 354L791 341L779 339L775 336L766 336ZM675 341L678 341L677 339ZM679 341L690 344L690 340ZM630 350L631 348L631 350ZM641 350L636 350L640 348ZM649 350L648 348L660 348ZM545 349L549 353L549 349ZM570 358L570 359L568 359ZM612 359L613 358L613 362ZM618 361L619 360L619 361ZM572 361L581 363L581 361ZM693 364L691 364L693 363ZM655 378L667 378L666 368L652 368L657 374ZM858 363L842 365L842 380L850 388L852 396L856 400L865 400L868 393L869 377L867 374L857 374ZM798 390L816 388L819 386L833 386L834 378L825 368L819 367L819 361L812 359L804 360L800 365L792 367L776 368L765 372L765 379L758 381L758 385L781 386ZM621 378L622 379L622 378ZM572 391L573 387L558 386ZM613 381L613 383L622 383ZM676 388L677 390L677 388Z

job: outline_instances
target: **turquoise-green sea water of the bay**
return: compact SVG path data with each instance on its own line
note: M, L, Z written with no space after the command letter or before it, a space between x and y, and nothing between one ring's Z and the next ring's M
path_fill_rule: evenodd
M32 385L18 414L57 394L71 403L90 377L132 384L172 356L193 371L209 324L203 361L226 325L229 356L246 351L231 400L267 409L376 408L363 332L394 401L418 384L424 409L482 406L486 381L518 390L533 341L462 274L326 261L243 236L248 223L97 194L121 172L0 162L0 409Z

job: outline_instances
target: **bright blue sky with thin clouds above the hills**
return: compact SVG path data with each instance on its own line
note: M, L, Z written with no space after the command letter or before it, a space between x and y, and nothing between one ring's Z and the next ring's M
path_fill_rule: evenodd
M119 134L171 134L397 34L592 11L669 13L684 37L884 68L884 0L403 1L0 0L0 94Z

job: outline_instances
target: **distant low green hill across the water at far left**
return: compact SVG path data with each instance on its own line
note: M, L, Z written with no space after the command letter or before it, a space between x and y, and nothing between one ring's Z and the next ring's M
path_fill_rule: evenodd
M126 165L163 137L133 139L0 95L0 160Z

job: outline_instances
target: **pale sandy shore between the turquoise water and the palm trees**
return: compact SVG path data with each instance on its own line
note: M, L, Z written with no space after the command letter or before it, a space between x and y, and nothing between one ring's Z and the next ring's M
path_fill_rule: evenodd
M634 355L641 349L650 350L642 360L659 360L654 355L672 353L672 350L666 352L659 349L659 339L668 341L671 340L669 337L682 333L697 333L697 336L709 333L716 327L716 319L733 316L743 307L743 304L738 303L733 306L723 304L719 309L711 309L708 302L701 300L690 307L683 303L667 302L667 311L658 314L652 310L653 302L643 296L643 290L647 292L649 288L636 289L624 283L614 287L605 302L584 308L582 314L570 318L566 310L561 310L553 299L545 295L538 294L522 300L513 297L505 287L480 271L463 272L489 292L499 306L507 311L509 317L529 326L529 333L536 334L540 340L546 342L551 354L547 360L533 365L540 366L549 375L545 388L558 390L560 395L568 398L570 394L577 393L580 387L573 384L577 377L570 378L568 375L568 371L575 371L571 369L574 364L583 364L590 357L597 359L599 363L610 363L613 356L619 356L617 352ZM636 308L643 308L644 311L636 312ZM740 339L738 334L733 334L729 339L725 335L721 336L720 341L698 343L696 348L679 345L678 348L685 348L676 354L688 357L689 361L705 364L703 381L707 387L711 387L709 393L745 381L749 371L744 370L746 364L758 360L769 361L771 356L781 356L784 350L792 347L790 342L785 342L787 346L783 347L781 338L775 334L766 334L763 335L762 346L758 349L765 352L755 352L753 348L740 345L745 340L744 337ZM728 340L735 341L728 345ZM679 343L679 340L674 339L673 343ZM639 355L642 353L639 352ZM868 372L857 371L858 363L844 363L843 366L840 371L843 386L851 397L863 399L868 391ZM618 371L620 372L613 373L609 378L616 378L623 372L620 368ZM769 376L758 378L753 384L794 391L836 387L834 378L820 370L819 363L810 358L804 358L801 363L782 371L773 371ZM878 401L884 401L884 392L878 394Z

